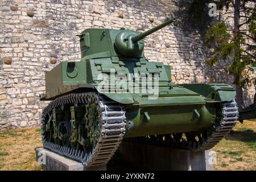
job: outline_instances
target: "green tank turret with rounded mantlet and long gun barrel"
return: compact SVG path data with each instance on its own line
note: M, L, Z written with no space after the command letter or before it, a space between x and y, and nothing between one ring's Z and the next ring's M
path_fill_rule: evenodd
M82 57L143 57L143 39L160 28L175 22L172 18L145 32L133 30L88 28L81 33Z

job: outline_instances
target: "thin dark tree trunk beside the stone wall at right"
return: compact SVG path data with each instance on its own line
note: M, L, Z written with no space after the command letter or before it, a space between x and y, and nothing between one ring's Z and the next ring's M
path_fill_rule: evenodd
M234 38L239 36L239 19L240 19L240 0L235 0L234 3ZM234 49L234 59L239 59L237 61L240 61L240 44L238 47ZM243 107L243 90L241 86L239 85L240 77L235 76L235 84L236 84L236 93L237 93L237 104L240 109Z

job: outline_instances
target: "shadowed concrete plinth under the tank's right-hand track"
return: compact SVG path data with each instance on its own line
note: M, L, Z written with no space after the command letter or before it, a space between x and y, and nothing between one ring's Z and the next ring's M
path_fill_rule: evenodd
M212 171L216 161L213 151L191 152L125 141L118 150L129 163L151 170Z

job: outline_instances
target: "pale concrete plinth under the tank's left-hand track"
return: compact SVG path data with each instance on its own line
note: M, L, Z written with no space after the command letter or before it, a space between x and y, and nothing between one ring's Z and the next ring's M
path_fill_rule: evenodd
M65 158L45 148L36 148L36 160L43 165L44 171L106 171L106 165L85 168L82 163Z

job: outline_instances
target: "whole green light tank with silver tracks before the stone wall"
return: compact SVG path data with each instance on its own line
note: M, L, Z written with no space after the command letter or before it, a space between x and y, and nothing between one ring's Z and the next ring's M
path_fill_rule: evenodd
M229 133L232 86L174 84L170 65L144 56L144 38L175 20L146 32L82 31L81 60L46 73L43 146L90 167L108 163L122 140L201 151Z

